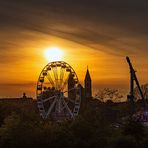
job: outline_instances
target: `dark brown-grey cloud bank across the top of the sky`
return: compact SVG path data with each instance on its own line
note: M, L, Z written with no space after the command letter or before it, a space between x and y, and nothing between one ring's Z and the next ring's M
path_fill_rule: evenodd
M148 47L142 42L148 35L147 8L144 0L1 0L0 50L5 56L19 42L45 34L117 56L135 54L137 40L138 47ZM34 36L24 36L25 31Z

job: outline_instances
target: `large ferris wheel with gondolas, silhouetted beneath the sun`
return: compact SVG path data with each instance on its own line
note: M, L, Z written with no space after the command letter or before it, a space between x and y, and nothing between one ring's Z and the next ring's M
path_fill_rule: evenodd
M43 119L73 119L78 115L81 89L73 68L63 61L48 63L37 82L37 104Z

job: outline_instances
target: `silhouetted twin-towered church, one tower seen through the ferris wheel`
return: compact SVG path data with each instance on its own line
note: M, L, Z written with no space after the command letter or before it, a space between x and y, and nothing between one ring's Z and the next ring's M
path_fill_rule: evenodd
M69 79L68 79L68 90L70 90L71 88L73 88L74 86L74 83L73 83L73 77L72 76L69 76ZM89 73L89 70L87 68L87 71L86 71L86 75L85 75L85 79L84 79L84 88L81 84L79 84L80 88L81 88L81 97L82 98L85 98L85 99L90 99L92 98L92 81L91 81L91 77L90 77L90 73ZM70 92L68 93L68 97L69 98L73 98L74 97L74 92Z

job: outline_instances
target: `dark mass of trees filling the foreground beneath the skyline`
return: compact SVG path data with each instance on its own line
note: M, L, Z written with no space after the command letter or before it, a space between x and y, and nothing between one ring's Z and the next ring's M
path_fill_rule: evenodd
M93 100L74 121L53 123L39 117L35 103L0 102L0 147L147 148L147 128L128 115L127 103Z

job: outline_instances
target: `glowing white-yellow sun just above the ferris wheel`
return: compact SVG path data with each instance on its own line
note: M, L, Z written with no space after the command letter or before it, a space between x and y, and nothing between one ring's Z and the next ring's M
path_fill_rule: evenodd
M45 58L50 62L60 61L63 57L63 54L63 51L58 47L47 48L44 52Z

